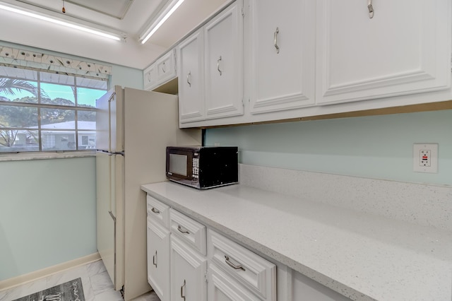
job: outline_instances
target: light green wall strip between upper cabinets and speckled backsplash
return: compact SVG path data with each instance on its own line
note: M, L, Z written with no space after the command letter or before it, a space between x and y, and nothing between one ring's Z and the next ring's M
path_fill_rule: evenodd
M452 185L452 110L208 129L215 142L244 164ZM437 174L412 171L413 143L439 143Z

